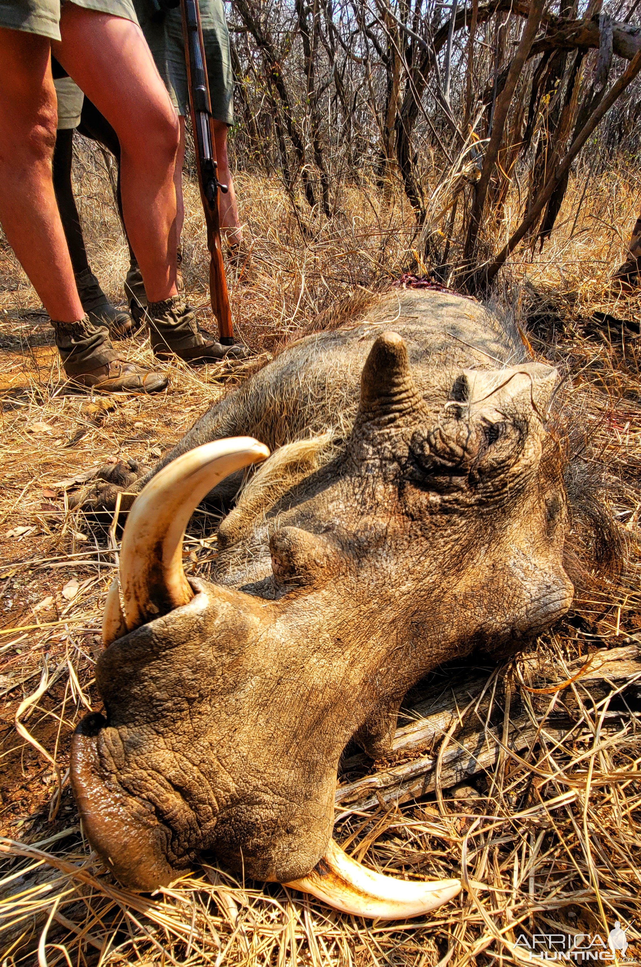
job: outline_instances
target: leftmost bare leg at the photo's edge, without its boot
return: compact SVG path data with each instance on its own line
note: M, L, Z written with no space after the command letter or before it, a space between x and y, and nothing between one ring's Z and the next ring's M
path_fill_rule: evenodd
M51 179L57 106L49 45L0 28L0 221L51 318L77 322L84 310Z

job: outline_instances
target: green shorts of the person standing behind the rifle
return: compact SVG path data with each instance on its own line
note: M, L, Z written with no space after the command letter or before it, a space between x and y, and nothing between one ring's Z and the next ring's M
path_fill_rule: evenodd
M187 114L189 88L180 8L168 10L159 20L150 0L133 0L133 4L145 40L151 48L173 105L179 114ZM212 115L217 121L232 125L234 123L234 77L222 0L199 0L198 6L205 42Z

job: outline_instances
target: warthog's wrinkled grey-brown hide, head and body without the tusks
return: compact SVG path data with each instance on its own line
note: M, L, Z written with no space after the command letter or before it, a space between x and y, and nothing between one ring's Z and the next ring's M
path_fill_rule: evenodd
M165 458L344 428L329 463L242 522L218 584L194 580L189 605L98 662L106 719L74 737L73 789L124 883L153 889L202 849L252 878L305 876L347 742L384 754L426 671L564 613L563 461L541 419L555 382L477 304L393 291L283 351Z

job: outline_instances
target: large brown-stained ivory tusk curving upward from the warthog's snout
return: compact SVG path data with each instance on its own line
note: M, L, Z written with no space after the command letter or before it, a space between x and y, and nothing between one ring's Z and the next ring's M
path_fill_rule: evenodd
M269 455L252 437L235 436L196 447L152 477L131 507L120 553L128 630L191 601L183 570L189 517L221 480Z

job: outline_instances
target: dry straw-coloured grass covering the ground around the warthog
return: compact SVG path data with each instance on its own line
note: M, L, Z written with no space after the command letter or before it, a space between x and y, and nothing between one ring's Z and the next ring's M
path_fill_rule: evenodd
M76 174L93 264L119 300L125 249L99 161L83 155ZM622 172L611 186L588 185L573 236L568 207L553 244L532 264L514 266L514 276L527 268L528 281L510 289L510 302L533 352L570 373L568 406L589 430L586 460L606 468L611 511L634 539L641 512L639 340L616 321L595 320L594 312L638 322L638 298L611 293L607 279L623 260L621 240L638 212L639 191ZM571 186L568 206L584 187L580 180ZM248 242L229 267L232 300L239 330L257 352L305 327L336 297L407 266L411 219L398 200L381 212L374 190L344 190L335 220L302 225L277 183L239 175L237 190ZM206 319L204 232L193 186L188 209L186 282ZM447 738L437 730L433 749L416 753L433 750L430 775L444 776L446 747L450 754L478 736L475 756L487 753L485 766L471 767L466 799L445 789L417 801L388 787L373 805L338 810L338 841L366 864L400 876L466 879L467 889L434 917L370 923L341 916L275 885L236 883L206 860L151 897L122 890L105 873L79 829L67 770L74 724L100 707L93 667L118 547L113 534L92 531L81 513L69 511L68 491L74 476L107 460L153 461L243 370L171 367L170 391L160 399L69 395L33 292L7 249L0 259L0 912L8 967L507 964L529 962L527 948L516 946L521 934L605 939L615 919L631 924L628 954L641 955L641 704L634 686L641 678L600 690L580 678L564 684L581 657L641 640L633 562L616 586L595 589L540 639L540 666L487 669L482 702L459 704L455 727L444 727ZM123 348L151 359L142 341ZM206 571L214 553L206 529L200 533L186 542L193 571ZM421 694L449 696L452 677L461 681L452 670L433 675ZM525 747L514 738L525 734L524 721L534 729ZM341 782L367 768L350 760Z

